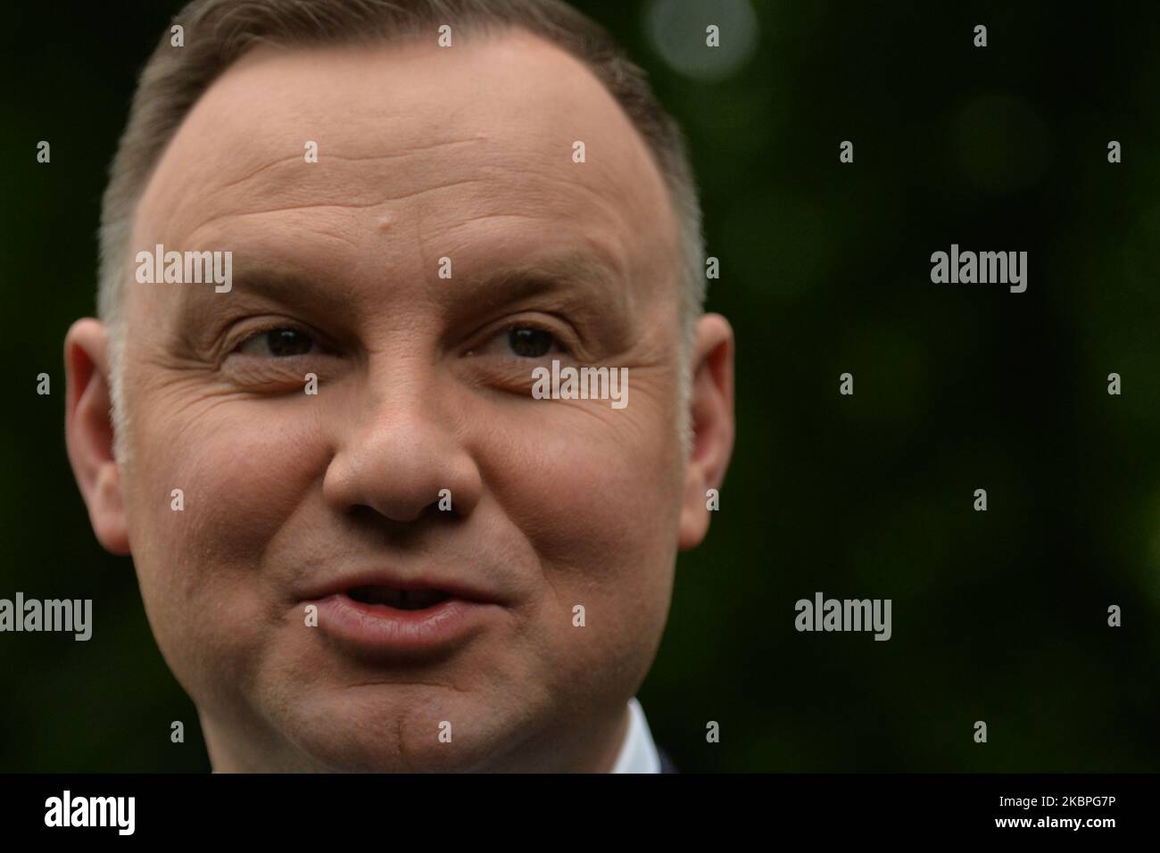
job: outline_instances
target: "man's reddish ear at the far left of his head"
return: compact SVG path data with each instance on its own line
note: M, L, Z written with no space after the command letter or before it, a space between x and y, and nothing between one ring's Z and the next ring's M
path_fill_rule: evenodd
M101 545L129 554L121 500L121 471L113 455L108 332L90 317L77 320L65 337L65 443L89 522Z

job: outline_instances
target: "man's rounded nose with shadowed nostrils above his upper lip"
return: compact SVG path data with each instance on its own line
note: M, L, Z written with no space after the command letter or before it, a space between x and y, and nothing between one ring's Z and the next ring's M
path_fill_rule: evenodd
M327 503L341 512L370 507L396 522L428 512L469 514L483 477L463 443L464 419L456 417L454 393L441 396L427 376L390 385L361 392L347 410L350 417L340 427L322 480Z

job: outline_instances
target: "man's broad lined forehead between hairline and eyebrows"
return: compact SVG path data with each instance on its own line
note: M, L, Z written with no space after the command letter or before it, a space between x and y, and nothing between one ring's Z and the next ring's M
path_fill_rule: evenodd
M378 269L385 253L415 273L560 244L646 289L674 287L657 272L677 252L628 116L579 60L520 31L252 51L187 116L137 225L135 251L168 239L293 254L307 233L310 252L358 250Z

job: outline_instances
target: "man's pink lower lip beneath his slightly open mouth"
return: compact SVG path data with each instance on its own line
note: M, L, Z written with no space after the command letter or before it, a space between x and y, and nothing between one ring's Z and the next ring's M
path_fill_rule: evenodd
M421 610L400 610L355 601L336 593L314 601L318 627L340 644L356 651L430 652L469 639L480 630L498 606L464 599L447 599Z

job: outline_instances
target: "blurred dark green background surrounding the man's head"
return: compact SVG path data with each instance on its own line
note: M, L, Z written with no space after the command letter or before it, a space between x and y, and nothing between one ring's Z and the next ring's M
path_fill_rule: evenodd
M180 5L5 12L0 598L92 598L95 627L0 635L0 771L209 768L63 439L107 164ZM755 2L755 53L698 82L644 7L578 6L690 138L738 338L722 509L639 694L658 742L689 771L1160 769L1160 10ZM931 284L951 243L1028 251L1028 291ZM893 638L798 634L815 591L892 599Z

